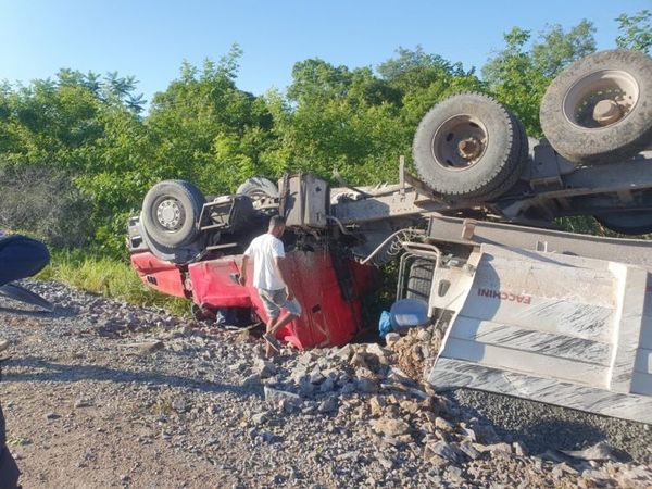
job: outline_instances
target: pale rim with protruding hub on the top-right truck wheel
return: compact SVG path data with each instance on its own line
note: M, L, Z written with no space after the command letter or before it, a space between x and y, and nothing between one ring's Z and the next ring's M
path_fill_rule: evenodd
M639 85L627 72L601 70L578 79L564 97L569 123L597 129L617 124L639 100Z

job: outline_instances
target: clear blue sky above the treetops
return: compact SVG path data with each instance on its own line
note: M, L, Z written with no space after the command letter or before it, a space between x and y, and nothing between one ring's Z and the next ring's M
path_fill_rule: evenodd
M376 66L399 46L479 68L513 26L536 34L586 17L598 49L609 49L614 18L643 9L652 0L0 0L0 79L27 84L61 67L117 71L136 76L150 100L184 60L218 60L238 42L238 87L259 95L284 89L297 61Z

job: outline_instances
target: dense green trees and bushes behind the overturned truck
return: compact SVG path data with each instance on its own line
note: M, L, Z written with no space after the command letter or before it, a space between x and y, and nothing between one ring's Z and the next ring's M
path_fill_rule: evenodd
M617 45L648 51L650 18L647 10L620 15ZM535 38L515 27L481 78L421 46L376 67L309 59L294 65L287 92L261 97L237 87L242 50L234 45L217 62L184 62L147 114L137 80L115 72L63 68L26 86L3 83L0 225L124 259L126 218L162 179L191 180L206 195L300 170L330 178L337 168L355 185L396 180L423 115L461 91L492 95L541 136L548 84L595 49L593 34L586 20Z

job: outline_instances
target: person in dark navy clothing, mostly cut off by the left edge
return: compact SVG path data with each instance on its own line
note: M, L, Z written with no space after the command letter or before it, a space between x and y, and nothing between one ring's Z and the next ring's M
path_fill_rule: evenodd
M21 235L5 235L0 230L0 287L36 275L49 261L50 253L42 242ZM9 341L0 338L0 351L8 347ZM7 448L4 415L0 406L0 489L20 487L20 474Z

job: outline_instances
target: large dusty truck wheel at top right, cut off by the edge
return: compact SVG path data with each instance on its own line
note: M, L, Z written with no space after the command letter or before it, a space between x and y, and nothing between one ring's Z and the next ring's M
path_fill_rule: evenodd
M539 112L550 145L576 163L630 158L652 141L652 59L613 50L570 64Z

